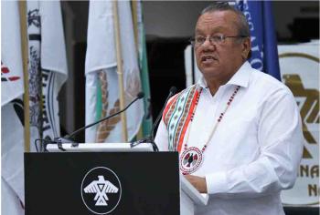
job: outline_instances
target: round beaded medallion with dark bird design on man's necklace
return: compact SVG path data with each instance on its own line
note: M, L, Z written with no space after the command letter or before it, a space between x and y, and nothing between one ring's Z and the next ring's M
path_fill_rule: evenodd
M201 166L202 160L202 152L199 148L187 148L180 156L180 170L185 175L191 174Z

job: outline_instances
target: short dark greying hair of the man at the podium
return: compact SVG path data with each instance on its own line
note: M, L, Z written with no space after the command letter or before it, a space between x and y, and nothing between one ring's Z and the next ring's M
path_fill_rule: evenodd
M215 2L211 5L208 5L205 9L203 9L200 15L213 13L215 11L232 11L233 13L238 15L239 19L236 25L238 27L239 36L250 37L250 29L249 29L247 18L245 15L243 15L243 13L240 10L235 8L233 5L229 5L228 2ZM251 50L249 51L247 58L249 59L250 57L251 57Z

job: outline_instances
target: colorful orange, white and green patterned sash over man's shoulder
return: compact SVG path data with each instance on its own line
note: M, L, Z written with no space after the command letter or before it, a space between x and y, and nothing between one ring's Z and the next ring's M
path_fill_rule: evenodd
M179 151L187 131L187 126L193 118L192 113L197 106L199 90L197 85L176 94L165 107L163 119L168 131L168 142L170 151Z

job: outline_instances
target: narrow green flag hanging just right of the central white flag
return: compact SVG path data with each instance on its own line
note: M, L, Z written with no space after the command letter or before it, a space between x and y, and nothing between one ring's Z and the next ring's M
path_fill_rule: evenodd
M137 36L138 36L138 55L139 55L139 68L141 75L142 88L144 91L144 120L143 120L143 135L144 137L149 136L152 126L153 118L151 113L151 93L149 83L149 71L148 71L148 60L146 53L146 42L144 33L144 18L143 8L141 0L136 1L136 19L137 19Z

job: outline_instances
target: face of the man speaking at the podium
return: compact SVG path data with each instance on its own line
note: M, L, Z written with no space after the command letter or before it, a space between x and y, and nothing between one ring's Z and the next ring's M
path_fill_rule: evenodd
M195 36L239 36L238 15L232 11L215 11L201 15L197 20ZM195 45L197 67L208 79L231 77L242 65L250 50L250 39L226 38L214 44L208 39L200 46Z

